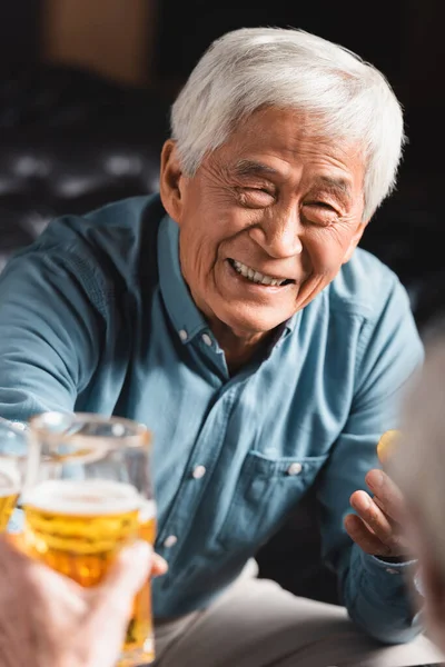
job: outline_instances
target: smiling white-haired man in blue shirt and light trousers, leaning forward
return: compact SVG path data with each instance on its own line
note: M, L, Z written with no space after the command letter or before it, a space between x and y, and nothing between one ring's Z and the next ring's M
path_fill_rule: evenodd
M376 469L423 346L398 278L357 248L404 141L390 86L358 56L235 30L172 104L159 193L55 220L1 275L0 415L154 431L160 667L439 656ZM310 488L342 606L256 576Z

